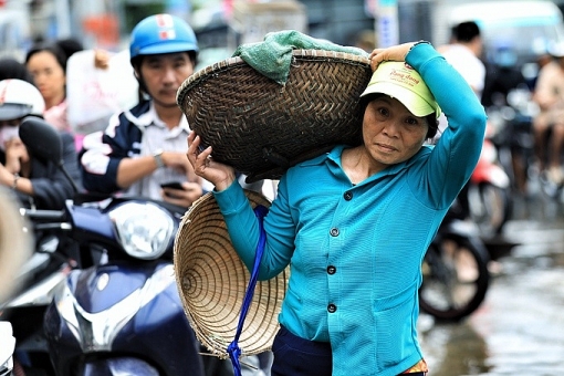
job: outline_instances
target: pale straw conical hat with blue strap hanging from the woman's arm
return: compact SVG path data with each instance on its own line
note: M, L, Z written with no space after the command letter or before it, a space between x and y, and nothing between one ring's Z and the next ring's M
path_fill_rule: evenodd
M270 207L262 195L246 190L252 207ZM234 251L212 194L196 201L182 218L175 240L175 273L186 315L198 340L227 358L233 341L250 272ZM288 269L257 283L239 338L242 355L270 349L286 290Z

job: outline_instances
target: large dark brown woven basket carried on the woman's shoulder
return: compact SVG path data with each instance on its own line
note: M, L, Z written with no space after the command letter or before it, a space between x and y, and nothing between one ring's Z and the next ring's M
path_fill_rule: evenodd
M294 50L285 85L230 58L188 77L177 102L203 147L247 181L278 179L291 166L336 144L361 143L359 95L367 58Z

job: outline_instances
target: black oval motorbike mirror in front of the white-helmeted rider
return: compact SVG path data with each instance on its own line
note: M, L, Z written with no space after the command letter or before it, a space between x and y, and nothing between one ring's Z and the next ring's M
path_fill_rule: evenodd
M59 132L44 119L27 116L20 123L20 138L31 155L62 165L63 143Z

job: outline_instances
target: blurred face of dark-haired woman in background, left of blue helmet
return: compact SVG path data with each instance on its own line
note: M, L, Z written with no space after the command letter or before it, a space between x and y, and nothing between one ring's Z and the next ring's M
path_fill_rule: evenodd
M53 106L65 97L65 74L56 58L49 51L34 53L28 61L28 70L33 76L45 104Z

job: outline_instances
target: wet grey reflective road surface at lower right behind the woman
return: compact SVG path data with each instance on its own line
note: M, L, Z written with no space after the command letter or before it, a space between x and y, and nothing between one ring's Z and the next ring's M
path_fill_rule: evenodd
M419 321L428 376L564 374L564 209L561 199L515 199L485 301L456 324Z

